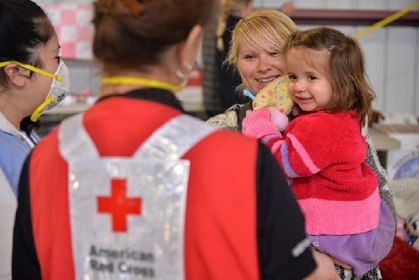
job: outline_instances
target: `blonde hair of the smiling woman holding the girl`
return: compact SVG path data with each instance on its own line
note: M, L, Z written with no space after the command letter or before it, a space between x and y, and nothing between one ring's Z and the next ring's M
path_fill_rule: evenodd
M233 30L230 50L226 63L235 66L240 52L240 46L249 44L265 50L281 52L288 36L297 31L297 26L288 15L270 8L253 10L237 22Z

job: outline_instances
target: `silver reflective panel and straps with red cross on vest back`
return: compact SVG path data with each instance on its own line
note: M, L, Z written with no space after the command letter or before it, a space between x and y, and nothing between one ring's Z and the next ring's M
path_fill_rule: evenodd
M212 131L182 115L133 157L100 158L82 115L61 124L76 279L184 279L189 161L180 158Z

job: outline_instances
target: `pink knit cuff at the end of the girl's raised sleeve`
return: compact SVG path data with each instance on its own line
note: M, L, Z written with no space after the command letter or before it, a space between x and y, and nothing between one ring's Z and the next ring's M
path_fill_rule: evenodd
M265 135L280 135L278 129L270 122L270 110L258 109L247 114L242 122L242 133L252 138Z

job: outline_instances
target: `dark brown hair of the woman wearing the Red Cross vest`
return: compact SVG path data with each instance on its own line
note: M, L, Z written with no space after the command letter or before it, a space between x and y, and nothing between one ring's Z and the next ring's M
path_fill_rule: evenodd
M97 0L94 2L94 56L104 71L147 71L171 45L205 25L215 0Z

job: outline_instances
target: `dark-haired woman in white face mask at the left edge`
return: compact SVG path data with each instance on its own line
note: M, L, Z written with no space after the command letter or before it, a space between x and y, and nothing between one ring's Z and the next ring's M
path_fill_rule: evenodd
M0 279L11 277L17 184L38 117L68 93L50 20L29 0L0 1Z

